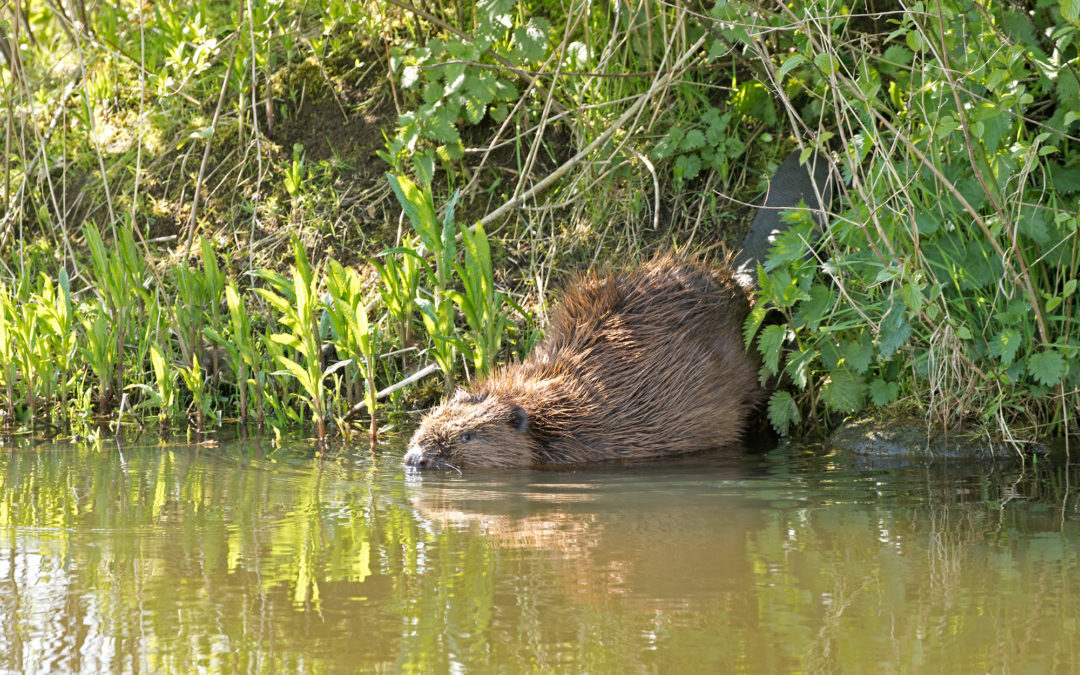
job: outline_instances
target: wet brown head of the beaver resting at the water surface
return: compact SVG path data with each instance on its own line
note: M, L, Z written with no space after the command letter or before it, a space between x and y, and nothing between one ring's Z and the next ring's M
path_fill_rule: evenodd
M528 413L487 393L458 390L432 410L409 442L409 467L522 467L535 460L537 442Z

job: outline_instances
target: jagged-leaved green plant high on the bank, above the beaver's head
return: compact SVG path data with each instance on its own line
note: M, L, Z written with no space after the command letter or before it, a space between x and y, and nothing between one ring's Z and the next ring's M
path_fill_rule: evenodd
M391 70L401 77L404 90L419 94L420 103L399 118L397 136L383 159L396 164L421 139L436 144L441 154L460 159L464 151L460 124L507 118L519 92L516 76L505 64L528 67L551 51L550 23L539 16L515 19L515 4L516 0L477 2L468 36L391 50Z

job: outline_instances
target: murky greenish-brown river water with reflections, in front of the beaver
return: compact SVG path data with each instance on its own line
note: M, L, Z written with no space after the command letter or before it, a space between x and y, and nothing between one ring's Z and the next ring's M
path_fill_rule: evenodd
M0 670L1077 672L1080 475L0 453Z

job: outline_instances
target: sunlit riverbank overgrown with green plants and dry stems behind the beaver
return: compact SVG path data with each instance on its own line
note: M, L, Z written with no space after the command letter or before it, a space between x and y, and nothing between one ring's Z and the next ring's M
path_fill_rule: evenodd
M793 147L839 187L824 237L796 222L759 274L745 335L778 431L870 409L1077 430L1080 29L1058 6L22 11L9 430L374 434L525 353L573 270L721 259Z

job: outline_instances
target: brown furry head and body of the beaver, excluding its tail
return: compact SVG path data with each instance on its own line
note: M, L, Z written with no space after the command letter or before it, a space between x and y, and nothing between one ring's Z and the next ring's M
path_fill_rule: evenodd
M748 311L728 265L665 255L571 281L536 350L428 415L406 462L515 467L731 445L761 397L741 337Z

